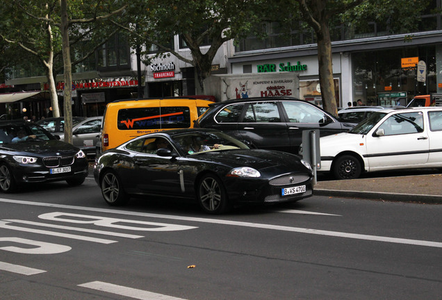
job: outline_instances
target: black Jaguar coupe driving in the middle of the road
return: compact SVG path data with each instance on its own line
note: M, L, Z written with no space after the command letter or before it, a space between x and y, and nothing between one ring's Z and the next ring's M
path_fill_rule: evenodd
M299 156L249 149L213 129L142 135L101 153L94 176L110 205L136 195L168 196L197 199L212 214L238 203L297 201L313 193L313 171Z

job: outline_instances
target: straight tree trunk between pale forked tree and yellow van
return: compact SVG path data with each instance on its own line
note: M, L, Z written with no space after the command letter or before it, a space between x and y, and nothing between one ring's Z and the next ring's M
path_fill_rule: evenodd
M69 48L69 16L67 15L67 0L61 0L60 31L63 38L63 65L65 74L65 88L63 90L65 142L72 144L72 63Z

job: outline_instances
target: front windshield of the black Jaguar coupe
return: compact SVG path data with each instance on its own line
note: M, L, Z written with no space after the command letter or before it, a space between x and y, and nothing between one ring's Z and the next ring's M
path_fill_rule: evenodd
M188 154L229 149L249 149L243 142L221 132L196 131L182 133L172 136L172 140Z

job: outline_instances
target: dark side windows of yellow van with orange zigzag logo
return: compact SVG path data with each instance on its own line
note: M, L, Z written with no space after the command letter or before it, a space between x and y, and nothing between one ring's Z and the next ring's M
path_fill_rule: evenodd
M189 128L190 108L187 106L126 108L118 111L120 130Z

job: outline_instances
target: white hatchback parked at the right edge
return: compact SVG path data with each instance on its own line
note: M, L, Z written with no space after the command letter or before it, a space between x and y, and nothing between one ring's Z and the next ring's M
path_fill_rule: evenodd
M379 110L348 133L320 138L320 157L318 172L338 179L387 169L440 168L442 108Z

